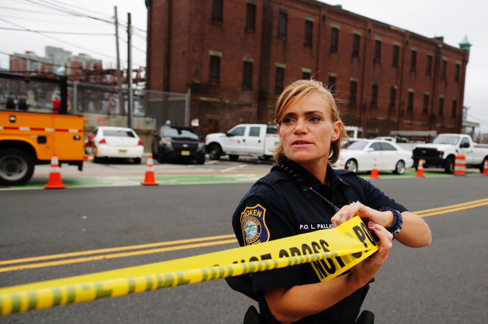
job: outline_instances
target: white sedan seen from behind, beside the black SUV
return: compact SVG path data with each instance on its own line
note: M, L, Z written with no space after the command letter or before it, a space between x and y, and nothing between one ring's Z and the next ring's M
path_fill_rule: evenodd
M132 159L134 164L141 163L144 145L132 128L98 126L88 138L94 146L94 162L103 158Z

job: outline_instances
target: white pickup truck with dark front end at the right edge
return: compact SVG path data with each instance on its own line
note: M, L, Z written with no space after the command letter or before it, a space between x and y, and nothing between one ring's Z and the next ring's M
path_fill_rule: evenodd
M418 167L418 160L425 162L423 167L442 167L446 173L454 172L454 160L462 153L466 167L479 168L483 172L484 160L488 159L488 146L478 145L467 134L440 134L432 143L418 144L413 150L413 164Z

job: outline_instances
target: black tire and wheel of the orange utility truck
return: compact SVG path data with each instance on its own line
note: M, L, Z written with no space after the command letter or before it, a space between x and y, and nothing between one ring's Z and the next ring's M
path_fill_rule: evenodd
M0 150L0 184L6 186L23 185L34 173L34 161L23 150Z

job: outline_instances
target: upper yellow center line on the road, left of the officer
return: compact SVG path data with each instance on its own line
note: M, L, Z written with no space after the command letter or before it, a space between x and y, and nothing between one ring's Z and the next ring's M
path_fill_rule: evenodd
M52 260L52 259L60 259L60 258L70 258L70 257L86 256L89 254L110 253L110 252L133 250L133 249L139 249L139 248L175 245L175 244L191 243L191 242L198 242L198 241L210 241L210 240L218 240L218 239L234 238L234 237L235 237L234 234L226 234L226 235L216 235L216 236L208 236L208 237L200 237L200 238L188 238L188 239L167 241L167 242L158 242L158 243L147 243L147 244L139 244L139 245L108 247L108 248L100 248L100 249L95 249L95 250L86 250L86 251L78 251L78 252L70 252L70 253L62 253L62 254L53 254L53 255L41 256L41 257L4 260L4 261L0 261L0 266L5 265L5 264L13 264L13 263L24 263L24 262L34 262L34 261Z

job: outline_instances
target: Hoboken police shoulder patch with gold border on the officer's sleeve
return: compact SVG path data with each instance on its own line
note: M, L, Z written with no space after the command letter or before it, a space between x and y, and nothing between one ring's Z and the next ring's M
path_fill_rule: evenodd
M246 245L263 243L269 240L269 231L264 223L265 213L266 209L260 204L254 207L246 207L240 213L242 237Z

